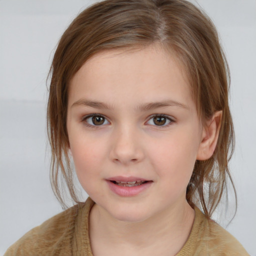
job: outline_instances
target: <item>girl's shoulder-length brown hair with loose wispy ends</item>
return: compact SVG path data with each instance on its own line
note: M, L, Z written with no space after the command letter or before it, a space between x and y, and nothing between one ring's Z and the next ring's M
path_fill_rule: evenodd
M234 134L228 107L229 70L214 25L185 0L105 0L86 8L72 21L59 40L50 68L47 127L51 184L62 205L60 172L73 201L78 201L67 151L68 82L97 52L139 49L152 43L160 43L181 61L202 121L222 110L215 151L208 160L196 160L186 190L187 201L197 205L199 201L207 217L219 203L227 178L231 180L227 163Z

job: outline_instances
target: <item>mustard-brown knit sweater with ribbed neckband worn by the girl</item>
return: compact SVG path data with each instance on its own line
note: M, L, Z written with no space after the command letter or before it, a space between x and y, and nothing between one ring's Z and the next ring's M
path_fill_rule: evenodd
M12 244L4 256L92 256L89 241L89 211L94 202L85 203L53 216L34 227ZM195 208L195 219L190 235L176 256L247 256L242 245L225 229Z

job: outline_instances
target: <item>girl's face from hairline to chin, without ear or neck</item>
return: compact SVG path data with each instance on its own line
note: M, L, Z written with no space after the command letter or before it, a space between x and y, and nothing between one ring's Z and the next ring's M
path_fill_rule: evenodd
M202 127L173 57L157 46L117 53L94 55L70 81L67 132L77 177L99 209L142 221L186 203ZM137 180L147 182L117 184Z

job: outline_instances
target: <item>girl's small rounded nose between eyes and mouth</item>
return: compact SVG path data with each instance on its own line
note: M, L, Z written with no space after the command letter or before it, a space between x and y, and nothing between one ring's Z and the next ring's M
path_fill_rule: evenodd
M136 128L123 127L113 131L110 158L122 164L140 162L144 158L139 132Z

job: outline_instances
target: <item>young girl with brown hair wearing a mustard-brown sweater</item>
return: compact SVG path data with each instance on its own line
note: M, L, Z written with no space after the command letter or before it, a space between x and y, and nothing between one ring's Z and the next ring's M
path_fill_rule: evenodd
M64 205L61 174L77 204L5 255L248 255L210 219L231 180L228 83L215 28L187 1L81 12L55 51L47 108L52 187Z

